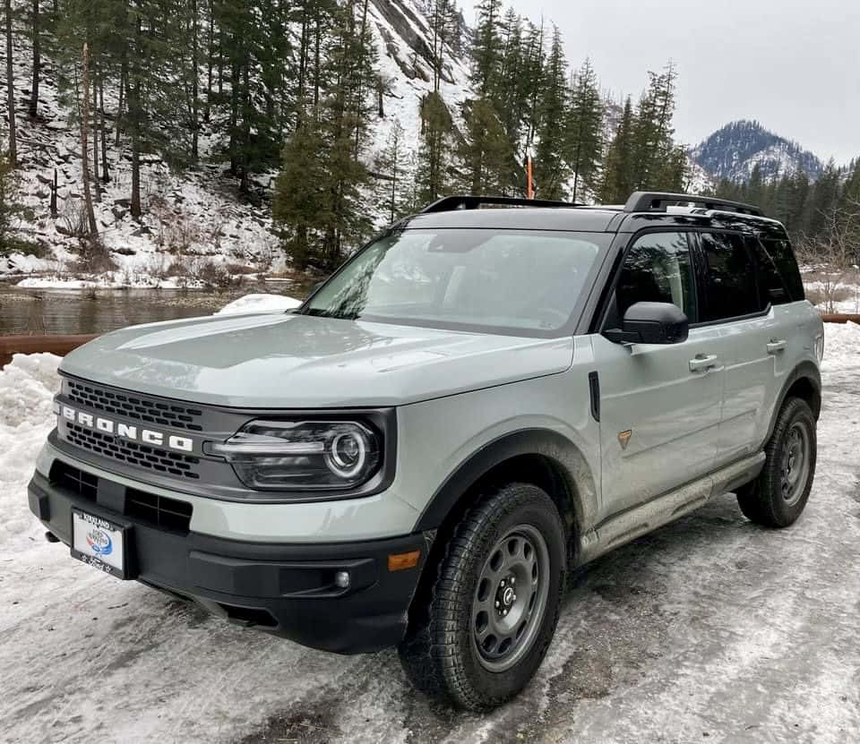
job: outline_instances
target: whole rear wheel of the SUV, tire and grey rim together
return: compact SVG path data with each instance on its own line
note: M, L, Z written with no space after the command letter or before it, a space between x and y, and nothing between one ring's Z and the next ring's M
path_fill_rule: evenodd
M770 527L794 524L813 487L816 448L812 409L801 398L788 398L765 447L761 474L737 492L744 516Z

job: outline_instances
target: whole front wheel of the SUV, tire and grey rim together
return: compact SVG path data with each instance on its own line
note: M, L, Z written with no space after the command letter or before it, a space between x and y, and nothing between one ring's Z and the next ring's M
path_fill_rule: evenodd
M562 520L546 492L508 483L487 494L446 545L426 596L416 598L398 649L409 679L469 710L516 695L555 632L565 554Z

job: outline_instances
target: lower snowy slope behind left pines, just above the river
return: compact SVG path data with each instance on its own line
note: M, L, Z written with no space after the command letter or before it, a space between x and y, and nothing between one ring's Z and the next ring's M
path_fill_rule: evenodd
M74 236L83 214L80 133L70 110L60 103L54 64L44 56L39 118L28 118L30 42L23 35L14 39L13 59L19 193L34 216L22 232L41 250L39 257L13 254L0 258L0 275L50 272L61 280L82 275L87 267L78 263L79 241ZM108 91L105 107L110 138L114 136L111 113L116 110L116 100ZM209 154L205 136L202 143L205 158ZM185 276L178 275L193 276L212 265L225 267L235 262L259 264L261 269L271 265L276 252L269 212L239 201L235 184L221 176L223 166L208 164L176 175L153 158L142 176L146 214L136 221L129 212L129 157L122 141L118 148L108 149L111 179L102 185L100 202L95 205L99 235L116 264L103 283L171 286L185 281ZM57 217L53 218L49 200L55 171ZM101 273L99 267L92 269Z

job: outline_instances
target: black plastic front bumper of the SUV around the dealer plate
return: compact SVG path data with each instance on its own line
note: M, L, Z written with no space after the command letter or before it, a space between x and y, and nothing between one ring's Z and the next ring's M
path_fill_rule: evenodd
M340 654L400 642L428 551L424 534L361 543L277 544L228 540L152 526L82 498L36 473L30 510L67 545L72 508L130 527L130 577L193 600L234 622ZM413 569L391 571L388 556L420 551ZM341 589L334 575L350 574Z

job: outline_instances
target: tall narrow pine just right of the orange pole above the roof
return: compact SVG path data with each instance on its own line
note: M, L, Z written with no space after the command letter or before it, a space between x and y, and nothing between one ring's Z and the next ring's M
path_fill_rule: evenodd
M535 162L538 196L563 199L568 167L564 160L567 73L562 35L553 30L553 43L546 60L542 98L538 111L538 149Z

